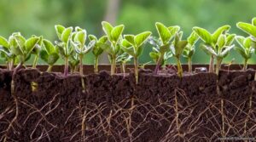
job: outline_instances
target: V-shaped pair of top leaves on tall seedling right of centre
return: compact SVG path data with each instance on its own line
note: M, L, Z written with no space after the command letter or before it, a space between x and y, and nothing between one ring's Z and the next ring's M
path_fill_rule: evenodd
M180 30L179 26L166 27L160 22L155 23L156 30L163 44L169 43L172 37Z

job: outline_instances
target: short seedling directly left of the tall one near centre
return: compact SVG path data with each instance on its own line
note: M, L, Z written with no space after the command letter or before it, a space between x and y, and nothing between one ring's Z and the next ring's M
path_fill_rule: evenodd
M107 36L103 36L99 39L97 39L95 36L93 35L89 35L88 36L90 41L95 40L96 44L94 44L93 48L92 48L92 54L94 54L95 56L95 65L94 65L94 72L98 73L98 63L99 63L99 56L103 53L103 46L108 46L107 42L108 42L108 37Z

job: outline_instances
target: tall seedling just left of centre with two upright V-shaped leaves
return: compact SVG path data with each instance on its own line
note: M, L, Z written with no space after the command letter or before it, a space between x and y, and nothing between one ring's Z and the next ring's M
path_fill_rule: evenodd
M111 63L111 75L113 75L116 68L116 58L120 49L119 42L125 26L119 25L113 27L108 22L102 21L102 28L108 37L108 41L110 42L110 46L103 46L102 48L108 53L108 58Z

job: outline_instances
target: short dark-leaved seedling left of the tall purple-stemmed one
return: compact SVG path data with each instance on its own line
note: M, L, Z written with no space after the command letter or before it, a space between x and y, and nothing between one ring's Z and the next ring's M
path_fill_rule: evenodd
M44 49L40 51L39 56L42 60L44 60L44 62L48 64L47 72L50 72L52 66L60 58L59 50L56 48L56 46L53 45L53 43L46 39L43 40L43 45Z

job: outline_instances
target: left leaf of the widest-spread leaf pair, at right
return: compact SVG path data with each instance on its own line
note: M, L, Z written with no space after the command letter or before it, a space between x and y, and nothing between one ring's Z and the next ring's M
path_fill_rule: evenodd
M200 27L194 27L193 31L207 44L212 43L212 35L209 31L206 29L200 28Z

